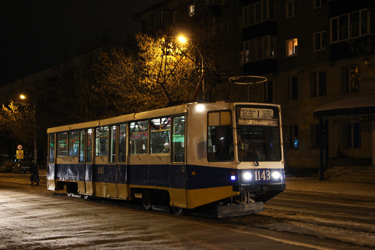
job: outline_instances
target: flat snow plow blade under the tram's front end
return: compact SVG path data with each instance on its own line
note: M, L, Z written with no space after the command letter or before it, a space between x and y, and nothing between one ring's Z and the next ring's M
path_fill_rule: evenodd
M247 214L255 214L263 211L264 204L262 201L248 204L222 205L216 207L217 217L232 217Z

